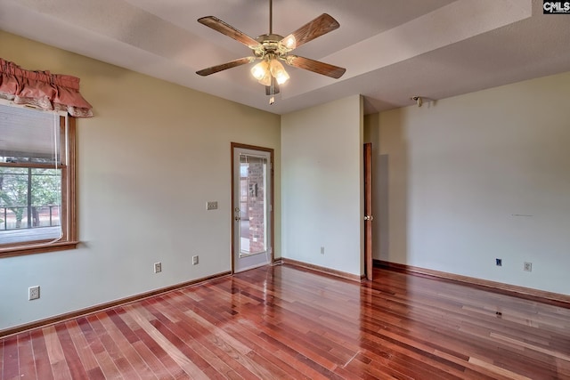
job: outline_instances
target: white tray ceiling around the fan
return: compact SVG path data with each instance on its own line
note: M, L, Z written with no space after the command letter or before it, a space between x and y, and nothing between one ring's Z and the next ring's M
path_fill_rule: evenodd
M438 100L570 71L570 14L543 15L542 0L273 0L273 32L288 35L323 12L340 28L295 54L346 74L287 67L271 106L251 64L195 74L251 55L196 20L213 15L256 37L269 31L268 0L0 0L0 28L277 114L357 93L370 114L414 95Z

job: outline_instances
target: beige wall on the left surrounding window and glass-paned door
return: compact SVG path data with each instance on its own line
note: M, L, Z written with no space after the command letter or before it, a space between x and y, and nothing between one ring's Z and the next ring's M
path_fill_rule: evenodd
M280 255L281 117L4 32L0 57L80 77L95 113L77 121L82 243L0 259L0 330L230 271L231 141L275 150Z

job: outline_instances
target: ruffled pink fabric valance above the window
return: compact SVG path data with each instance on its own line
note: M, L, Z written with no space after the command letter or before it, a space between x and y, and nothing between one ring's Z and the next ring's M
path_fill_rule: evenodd
M65 111L73 117L93 117L93 107L79 93L78 77L21 69L2 58L0 98L16 104Z

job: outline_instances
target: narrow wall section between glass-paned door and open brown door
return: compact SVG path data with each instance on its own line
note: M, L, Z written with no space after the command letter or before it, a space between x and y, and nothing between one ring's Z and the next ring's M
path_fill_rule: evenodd
M362 120L360 95L282 117L283 257L362 274Z

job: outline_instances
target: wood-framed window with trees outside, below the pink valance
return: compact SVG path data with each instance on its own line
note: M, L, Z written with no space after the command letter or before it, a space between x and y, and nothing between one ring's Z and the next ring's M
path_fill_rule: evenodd
M75 119L0 103L0 257L76 245Z

